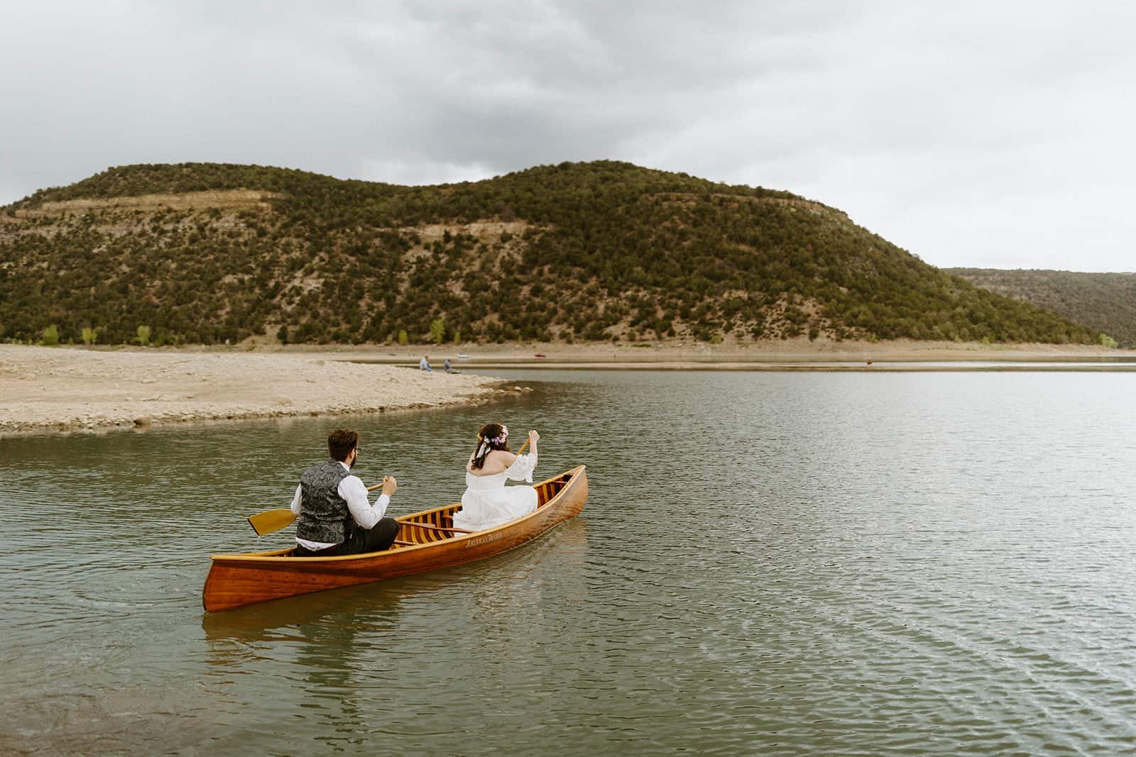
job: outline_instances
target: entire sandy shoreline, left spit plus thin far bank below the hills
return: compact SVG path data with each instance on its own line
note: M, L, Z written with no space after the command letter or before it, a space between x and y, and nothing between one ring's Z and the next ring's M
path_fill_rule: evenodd
M423 353L435 371L417 370ZM463 355L463 356L462 356ZM445 358L460 375L442 372ZM968 370L996 362L1136 359L1136 352L1061 345L928 342L757 345L446 345L140 350L0 345L0 434L216 419L385 412L484 402L503 389L478 370ZM872 364L869 364L871 361ZM974 363L968 367L968 363ZM1136 369L1116 362L1102 370ZM991 370L989 367L982 367Z

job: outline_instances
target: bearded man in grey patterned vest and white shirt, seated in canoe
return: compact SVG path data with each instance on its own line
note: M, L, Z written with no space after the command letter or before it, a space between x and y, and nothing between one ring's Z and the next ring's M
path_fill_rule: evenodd
M292 497L296 557L331 557L379 552L394 544L399 523L383 518L399 488L393 477L383 479L383 493L371 505L367 487L351 469L359 459L359 435L348 429L327 437L332 459L309 468Z

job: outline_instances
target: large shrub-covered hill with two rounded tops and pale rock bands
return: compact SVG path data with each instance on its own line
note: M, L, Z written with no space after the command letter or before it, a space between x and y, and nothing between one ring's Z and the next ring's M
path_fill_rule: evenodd
M428 187L111 168L0 209L0 338L51 325L173 344L1097 337L820 203L610 161Z

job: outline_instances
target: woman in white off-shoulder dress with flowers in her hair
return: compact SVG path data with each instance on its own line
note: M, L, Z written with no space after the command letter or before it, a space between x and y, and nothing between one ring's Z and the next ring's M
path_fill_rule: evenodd
M507 446L509 429L487 423L477 432L477 448L466 463L466 493L461 510L453 514L454 528L483 531L536 510L536 489L531 486L507 487L507 479L533 482L536 468L536 440L541 435L528 432L532 452L515 455Z

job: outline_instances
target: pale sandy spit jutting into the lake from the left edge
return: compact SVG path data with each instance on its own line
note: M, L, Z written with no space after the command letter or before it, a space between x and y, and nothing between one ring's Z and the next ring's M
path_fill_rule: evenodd
M481 402L500 381L320 355L0 345L0 434Z

